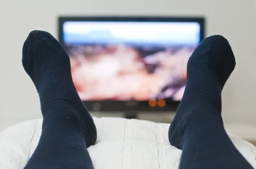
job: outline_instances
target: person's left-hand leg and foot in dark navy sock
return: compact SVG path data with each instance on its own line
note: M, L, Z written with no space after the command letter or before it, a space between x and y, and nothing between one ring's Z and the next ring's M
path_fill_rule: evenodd
M96 141L96 127L73 85L64 48L49 33L32 31L22 64L38 90L44 118L25 169L93 169L87 147Z

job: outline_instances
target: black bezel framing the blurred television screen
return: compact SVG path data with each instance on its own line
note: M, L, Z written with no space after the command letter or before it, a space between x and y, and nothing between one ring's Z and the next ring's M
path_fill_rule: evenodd
M200 25L200 42L205 37L204 17L116 17L116 16L87 16L87 17L58 17L58 41L64 45L63 25L67 21L105 21L105 22L196 22ZM177 110L180 101L166 99L165 107L150 107L148 101L83 101L87 110L105 112L165 112Z

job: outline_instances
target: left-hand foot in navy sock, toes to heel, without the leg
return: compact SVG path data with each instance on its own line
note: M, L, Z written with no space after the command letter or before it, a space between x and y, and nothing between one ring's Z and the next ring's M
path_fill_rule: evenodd
M23 45L22 64L38 90L44 123L50 110L63 111L54 116L66 118L85 138L86 145L96 141L96 127L73 84L70 59L64 48L51 34L32 31ZM63 114L64 109L71 113ZM43 124L44 128L44 124ZM68 131L67 131L68 132Z

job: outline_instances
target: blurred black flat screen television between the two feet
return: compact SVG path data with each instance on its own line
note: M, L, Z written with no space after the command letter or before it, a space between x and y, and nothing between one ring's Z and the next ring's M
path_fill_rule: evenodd
M58 39L88 110L176 110L204 18L59 17Z

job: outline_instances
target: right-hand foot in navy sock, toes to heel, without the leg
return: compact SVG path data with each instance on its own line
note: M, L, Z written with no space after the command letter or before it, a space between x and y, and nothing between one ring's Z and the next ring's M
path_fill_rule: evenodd
M186 89L169 128L171 145L182 149L184 135L202 116L218 114L221 118L221 91L235 65L232 49L224 37L211 36L198 45L189 58ZM215 111L207 114L202 112L204 108Z

